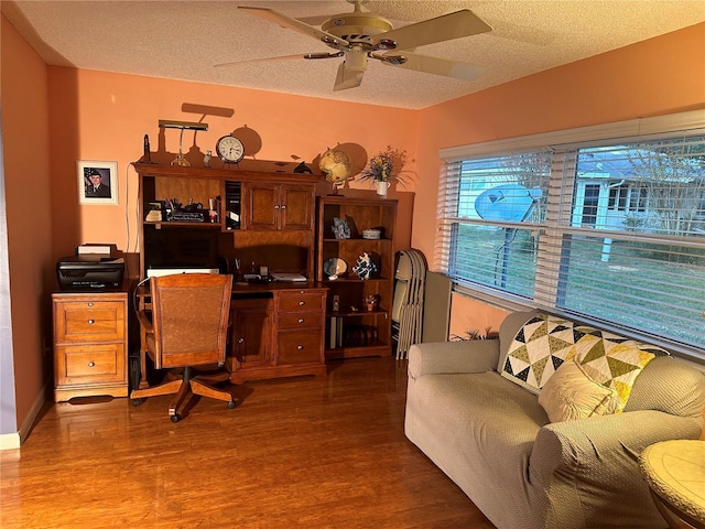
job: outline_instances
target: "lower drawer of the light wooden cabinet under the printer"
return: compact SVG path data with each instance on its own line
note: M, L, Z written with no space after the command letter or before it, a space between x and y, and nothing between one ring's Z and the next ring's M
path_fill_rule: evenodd
M72 345L55 350L58 385L127 380L123 344Z

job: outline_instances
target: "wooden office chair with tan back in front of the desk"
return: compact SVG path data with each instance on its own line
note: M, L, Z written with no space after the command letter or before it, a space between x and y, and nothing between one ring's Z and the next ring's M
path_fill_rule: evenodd
M228 373L197 375L193 369L225 363L231 293L232 276L178 273L150 279L151 311L138 311L140 353L150 356L155 369L173 370L159 386L134 389L130 395L134 406L144 397L176 393L169 407L172 422L180 421L189 393L235 408L232 395L212 386L227 380Z

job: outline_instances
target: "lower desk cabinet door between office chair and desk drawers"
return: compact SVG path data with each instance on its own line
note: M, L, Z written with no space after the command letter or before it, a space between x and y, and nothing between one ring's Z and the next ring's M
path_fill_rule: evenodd
M272 315L267 303L238 306L232 311L235 370L272 365Z

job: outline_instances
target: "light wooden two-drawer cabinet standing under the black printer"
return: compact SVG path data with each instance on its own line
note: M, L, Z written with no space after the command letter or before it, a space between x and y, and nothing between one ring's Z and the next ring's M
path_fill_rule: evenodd
M128 396L128 292L57 292L54 400Z

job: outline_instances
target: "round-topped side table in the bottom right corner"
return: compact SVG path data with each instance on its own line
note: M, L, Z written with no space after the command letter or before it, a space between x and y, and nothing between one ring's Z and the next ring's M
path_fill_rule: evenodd
M705 529L705 441L663 441L639 458L659 511L674 529Z

